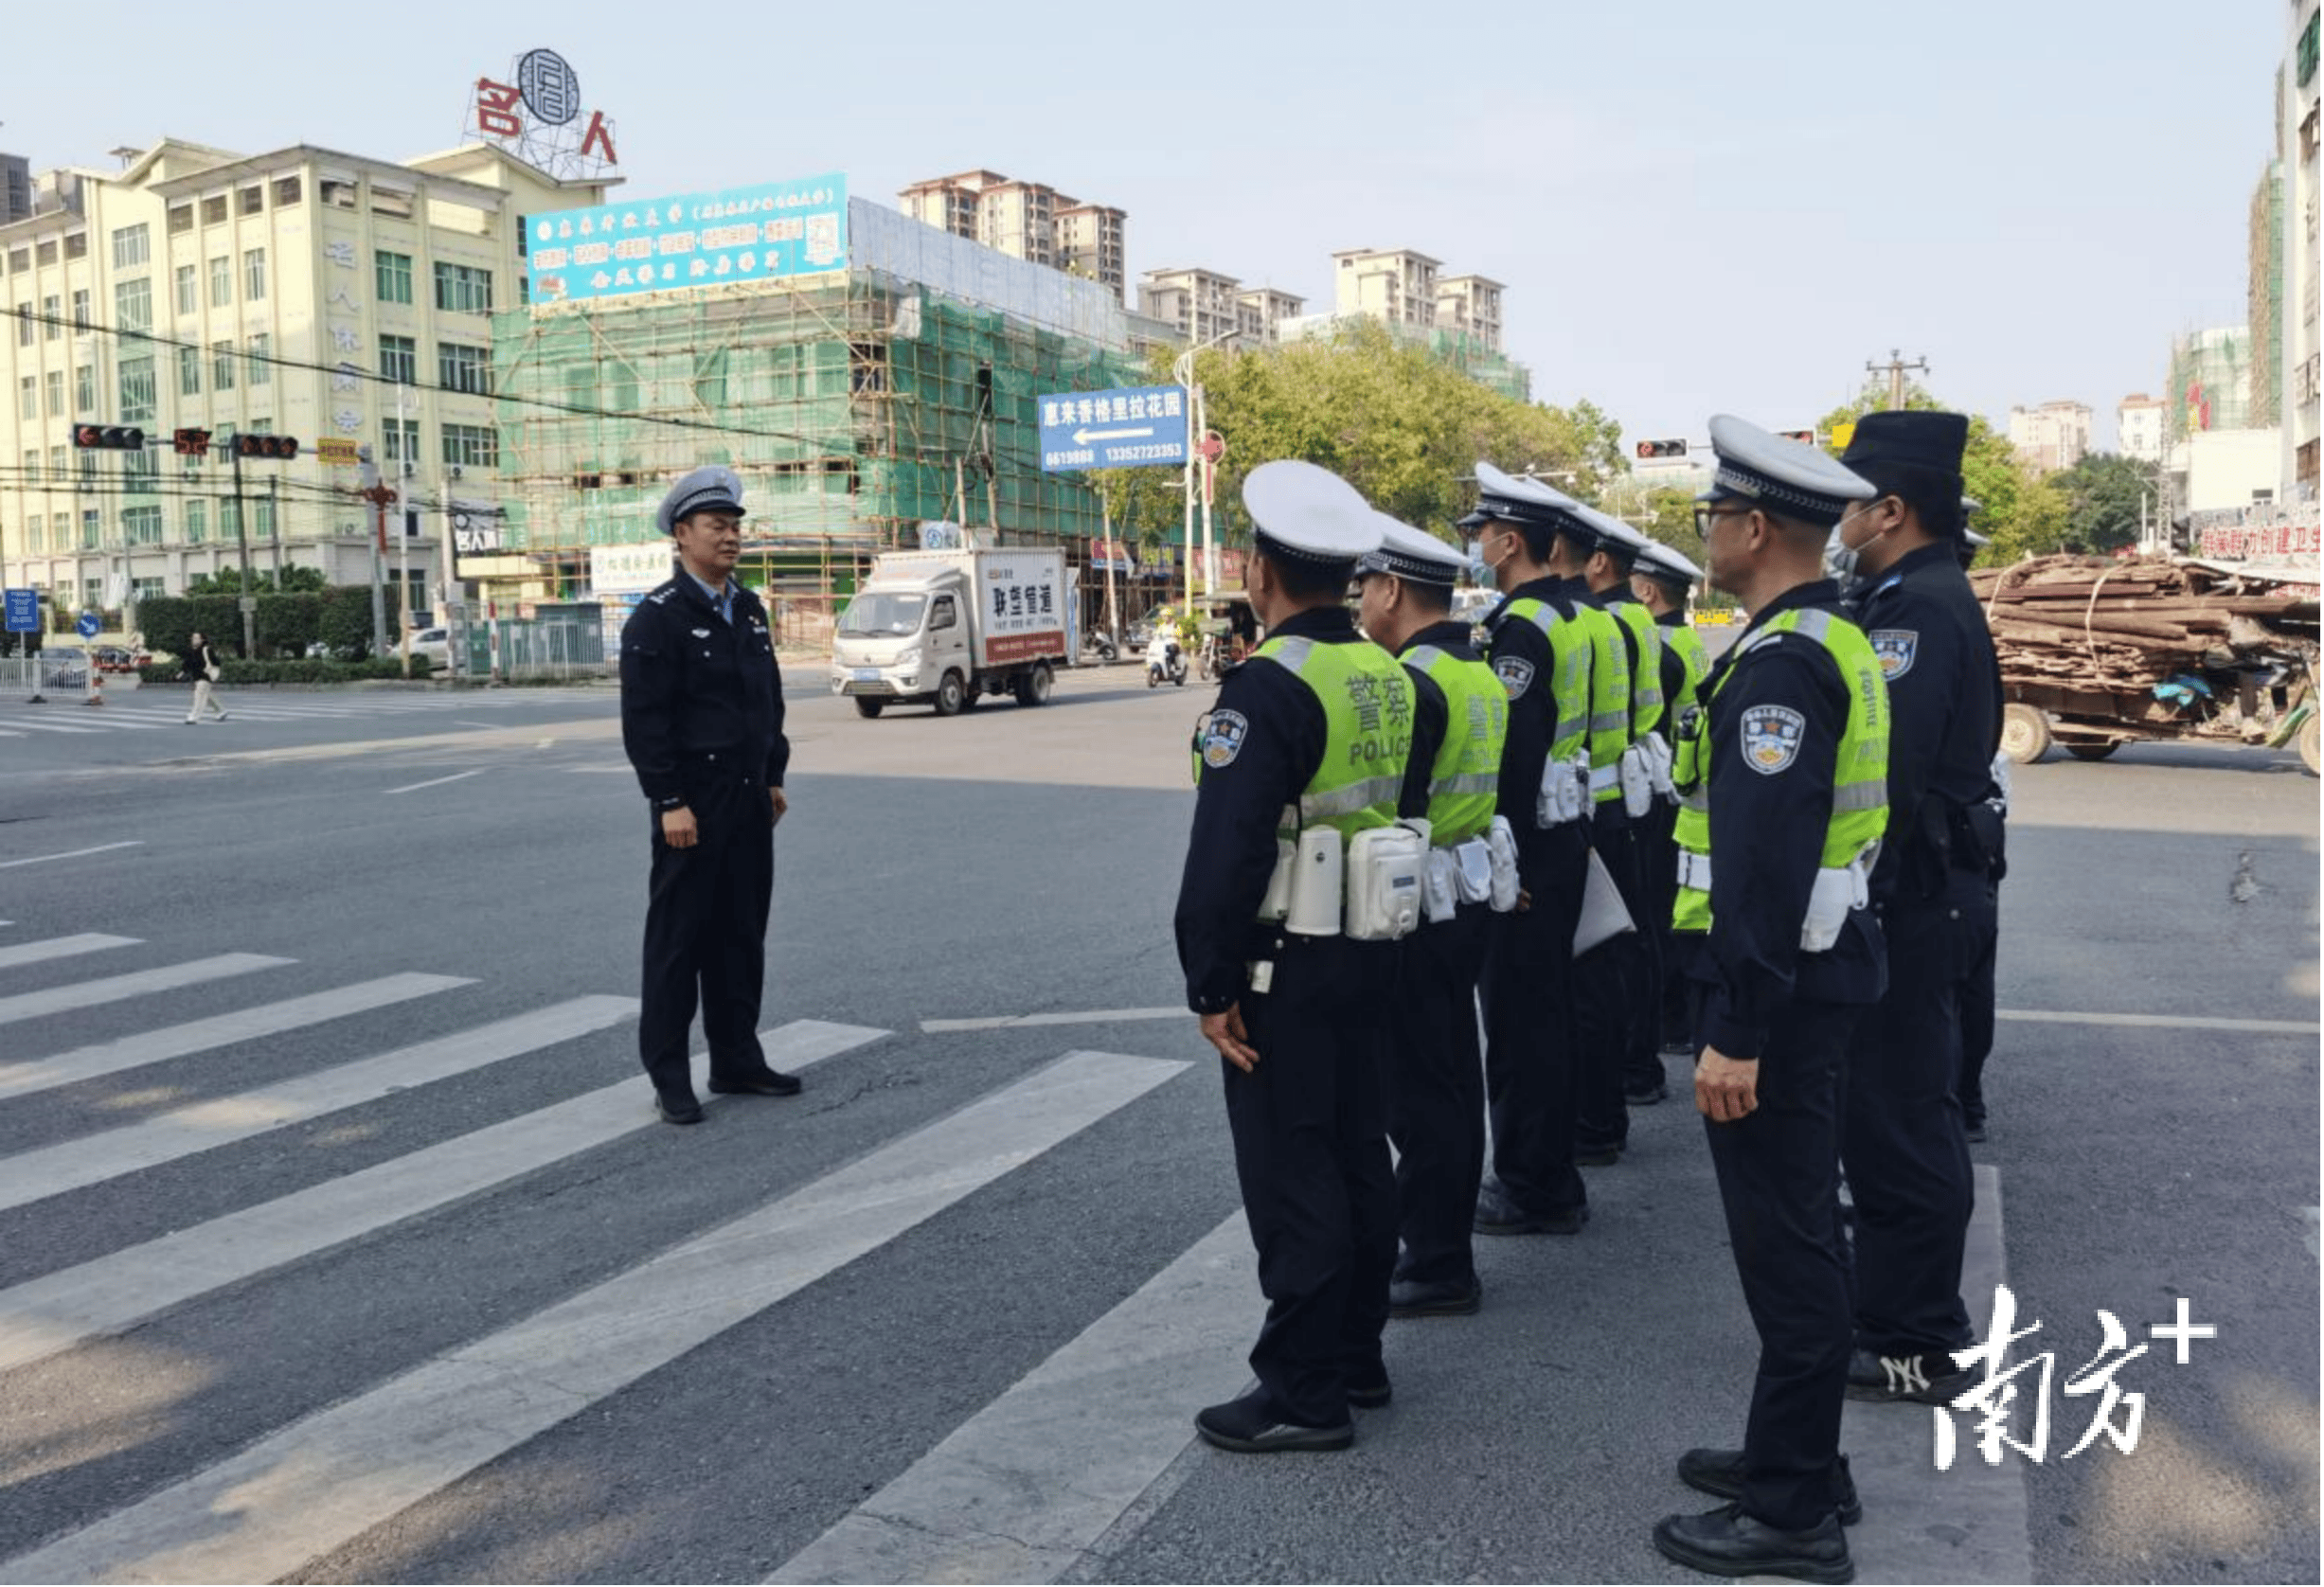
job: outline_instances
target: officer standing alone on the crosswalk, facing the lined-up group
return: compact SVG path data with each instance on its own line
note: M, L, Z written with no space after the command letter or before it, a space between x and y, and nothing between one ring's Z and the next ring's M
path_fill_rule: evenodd
M669 1125L702 1122L686 1055L697 988L711 1090L799 1092L758 1043L790 744L767 611L734 583L741 518L732 469L695 469L672 486L658 523L679 574L621 630L621 741L653 813L637 1048Z

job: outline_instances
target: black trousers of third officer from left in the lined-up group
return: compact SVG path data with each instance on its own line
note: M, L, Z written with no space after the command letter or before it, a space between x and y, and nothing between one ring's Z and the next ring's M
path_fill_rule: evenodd
M1532 906L1499 918L1478 985L1492 1176L1525 1211L1562 1213L1590 1201L1573 1166L1573 925L1590 836L1573 820L1520 841Z

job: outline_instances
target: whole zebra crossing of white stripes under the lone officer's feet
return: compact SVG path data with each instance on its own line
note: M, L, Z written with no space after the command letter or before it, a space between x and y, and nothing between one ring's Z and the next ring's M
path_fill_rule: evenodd
M535 1294L539 1304L395 1371L370 1376L358 1357L332 1378L335 1362L300 1362L295 1371L323 1387L232 1448L205 1448L181 1468L123 1485L72 1485L63 1478L74 1462L53 1441L72 1450L74 1438L98 1438L112 1422L70 1385L88 1373L109 1383L135 1376L107 1352L128 1350L121 1362L135 1364L144 1359L139 1338L167 1336L188 1308L237 1297L265 1308L274 1294L311 1294L304 1280L318 1264L360 1273L386 1241L456 1238L462 1218L521 1218L502 1208L532 1176L607 1164L609 1178L593 1194L653 1197L655 1180L621 1178L623 1143L634 1176L639 1146L667 1148L683 1134L697 1150L702 1141L651 1120L625 1034L634 999L623 994L521 1006L514 990L497 990L493 1015L407 1041L379 1032L462 994L472 1001L460 1008L476 1008L495 988L383 974L267 999L270 978L293 974L293 960L139 957L165 955L100 932L30 939L19 927L0 936L0 1022L14 1027L0 1099L46 1108L40 1139L0 1155L0 1241L26 1234L26 1250L60 1252L44 1271L33 1271L40 1262L14 1264L0 1280L0 1403L23 1413L19 1431L0 1431L0 1494L19 1499L0 1503L0 1582L272 1580L316 1568L416 1508L458 1501L486 1480L483 1468L551 1434L588 1438L590 1413L614 1396L688 1373L690 1355L1020 1176L1188 1071L1176 1060L1055 1050L964 1104L874 1136L867 1150L772 1199L720 1208L660 1245L572 1252L569 1262L593 1269L586 1283ZM221 976L232 976L223 985L235 1008L119 1029L151 1013L158 994ZM49 985L23 985L28 978ZM91 1013L109 1018L105 1039L74 1046L51 1036ZM769 1062L790 1071L876 1055L892 1039L813 1018L765 1032ZM230 1064L251 1043L274 1043L274 1053L300 1043L297 1073L242 1090L205 1085L207 1073L235 1073L205 1067ZM158 1231L144 1238L109 1238L105 1220L86 1218L93 1197L207 1183L195 1176L295 1152L297 1141L279 1143L304 1125L367 1118L372 1129L390 1129L381 1120L397 1111L428 1111L462 1080L551 1053L581 1090L511 1118L453 1115L376 1162L321 1178L288 1173L279 1190L256 1176L225 1211L191 1197L186 1220L158 1215ZM706 1055L695 1064L706 1078ZM202 1099L170 1106L177 1094ZM839 1087L811 1092L823 1094ZM711 1094L706 1104L772 1127L795 1118L748 1099ZM142 1111L123 1122L123 1108ZM1248 1252L1236 1213L862 1506L825 1517L827 1529L774 1580L1053 1580L1183 1455L1188 1406L1243 1385L1239 1357L1260 1304ZM151 1385L121 1392L170 1403L170 1383L156 1369ZM1122 1415L1092 1424L1092 1389ZM618 1448L609 1459L618 1464ZM65 1499L53 1492L60 1480ZM964 1487L995 1482L1009 1494L1006 1545L960 1513ZM28 1520L33 1496L44 1499L40 1522ZM12 1508L16 1522L5 1520ZM765 1571L748 1580L758 1575Z

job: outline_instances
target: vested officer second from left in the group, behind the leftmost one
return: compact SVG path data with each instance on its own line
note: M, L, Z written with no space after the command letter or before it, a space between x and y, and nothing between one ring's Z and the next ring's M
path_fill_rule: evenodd
M1413 678L1415 732L1406 816L1429 823L1429 918L1404 943L1387 1067L1390 1141L1404 1252L1387 1290L1390 1317L1478 1308L1469 1220L1485 1171L1485 1071L1476 983L1492 927L1485 832L1501 783L1508 690L1452 620L1462 558L1394 520L1357 562L1364 632Z

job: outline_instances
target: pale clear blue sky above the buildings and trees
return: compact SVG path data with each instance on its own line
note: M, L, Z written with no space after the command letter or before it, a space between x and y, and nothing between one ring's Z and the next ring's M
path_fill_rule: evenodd
M1806 425L1901 346L1957 407L2078 397L2110 441L2175 330L2245 318L2287 28L2287 0L525 14L23 9L0 149L404 158L551 46L637 198L841 170L892 204L983 165L1127 209L1132 279L1206 265L1327 307L1334 249L1411 246L1506 281L1534 395L1627 439Z

